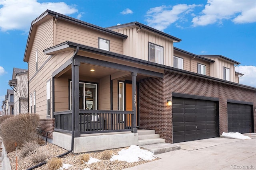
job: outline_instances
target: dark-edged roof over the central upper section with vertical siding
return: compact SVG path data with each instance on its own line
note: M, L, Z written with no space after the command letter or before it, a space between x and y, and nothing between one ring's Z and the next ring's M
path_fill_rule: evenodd
M130 23L125 23L125 24L121 24L121 25L116 25L116 26L112 26L112 27L107 27L107 29L119 29L119 28L130 27L130 26L137 26L137 27L139 27L140 29L141 29L141 28L147 29L147 30L149 30L149 31L152 31L152 32L157 33L157 34L159 34L159 35L162 35L162 36L164 36L164 37L170 38L170 39L172 39L174 42L180 42L180 41L181 41L181 39L179 39L179 38L177 38L177 37L174 37L174 36L172 36L172 35L169 35L169 34L167 34L167 33L164 33L164 32L162 32L162 31L159 31L159 30L157 30L157 29L154 29L154 28L149 27L149 26L147 26L147 25L144 25L144 24L142 24L142 23L139 23L139 22L137 22L137 21L135 21L135 22L130 22Z

